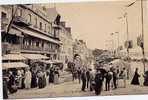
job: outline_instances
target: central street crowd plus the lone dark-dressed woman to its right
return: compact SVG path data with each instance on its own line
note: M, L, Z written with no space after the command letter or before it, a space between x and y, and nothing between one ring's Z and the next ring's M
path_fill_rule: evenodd
M99 95L103 89L110 91L119 87L126 88L128 79L127 69L120 69L119 66L110 67L109 69L100 67L95 72L91 68L79 67L73 70L72 75L73 81L78 80L79 84L82 84L82 91L88 89L95 91L96 95ZM136 69L131 84L139 85L139 77L138 69ZM119 83L119 80L122 82L122 85Z

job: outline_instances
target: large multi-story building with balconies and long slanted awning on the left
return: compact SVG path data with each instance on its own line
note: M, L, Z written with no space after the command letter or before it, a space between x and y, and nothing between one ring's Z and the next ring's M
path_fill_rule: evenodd
M1 6L2 54L42 54L59 58L60 15L39 5Z

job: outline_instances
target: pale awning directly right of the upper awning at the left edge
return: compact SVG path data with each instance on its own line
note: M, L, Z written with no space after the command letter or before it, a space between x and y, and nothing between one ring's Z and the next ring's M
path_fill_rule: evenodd
M41 54L21 54L23 57L31 60L48 59L49 57Z

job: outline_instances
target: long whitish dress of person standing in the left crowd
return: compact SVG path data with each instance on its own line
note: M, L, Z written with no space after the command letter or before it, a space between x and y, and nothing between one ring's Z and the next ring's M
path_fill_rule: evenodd
M27 89L31 87L31 78L32 78L31 72L27 71L25 73L25 79L24 79L25 88Z

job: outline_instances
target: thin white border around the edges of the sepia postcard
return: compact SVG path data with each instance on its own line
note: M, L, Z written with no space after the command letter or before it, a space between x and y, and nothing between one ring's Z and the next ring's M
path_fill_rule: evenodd
M30 3L54 3L54 2L92 2L92 1L130 1L130 0L0 0L0 5L6 4L30 4ZM148 2L147 2L148 3ZM1 9L0 9L1 10ZM1 15L1 14L0 14ZM1 22L1 21L0 21ZM1 39L1 35L0 35ZM0 51L1 51L1 42L0 42ZM1 55L1 52L0 52ZM0 59L1 56L0 56ZM2 67L1 67L1 60L0 60L0 99L2 99ZM62 97L62 98L43 98L42 100L148 100L148 95L122 95L122 96L89 96L89 97ZM36 99L41 100L41 99Z

